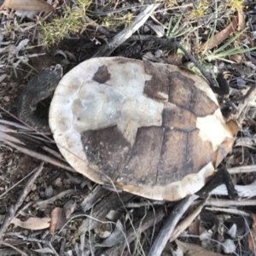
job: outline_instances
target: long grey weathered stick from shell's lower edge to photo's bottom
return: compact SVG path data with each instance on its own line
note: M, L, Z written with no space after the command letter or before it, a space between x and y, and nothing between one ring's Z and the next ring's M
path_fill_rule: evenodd
M183 213L187 211L191 203L198 198L197 195L190 195L184 198L182 201L179 201L177 205L173 208L171 214L167 218L164 226L160 230L157 238L154 241L153 247L151 247L148 256L160 256L166 247L166 242L169 237L172 235L177 222L182 218Z

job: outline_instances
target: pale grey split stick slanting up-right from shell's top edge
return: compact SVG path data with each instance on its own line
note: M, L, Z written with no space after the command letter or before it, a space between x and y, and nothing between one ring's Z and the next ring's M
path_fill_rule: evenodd
M93 58L109 56L113 53L113 50L118 48L120 44L123 44L131 35L136 32L143 24L148 20L148 17L160 6L160 3L150 4L143 10L136 19L132 22L131 26L126 27L119 32L113 39L109 40L107 44L102 45L100 49L93 55Z

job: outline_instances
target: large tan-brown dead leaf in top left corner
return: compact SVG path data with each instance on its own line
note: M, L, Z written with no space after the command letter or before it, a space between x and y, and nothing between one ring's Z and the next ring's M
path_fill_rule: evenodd
M55 9L44 0L4 0L0 10L4 8L38 11L38 12L53 12Z

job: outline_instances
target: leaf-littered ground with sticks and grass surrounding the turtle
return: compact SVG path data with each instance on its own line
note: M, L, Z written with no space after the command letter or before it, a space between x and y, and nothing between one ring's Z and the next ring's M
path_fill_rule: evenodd
M40 1L26 2L47 8ZM11 11L19 0L4 1L7 8L0 12L0 254L254 255L255 3L160 1L146 20L140 20L151 1L96 2L56 1L55 14L36 12L29 18ZM121 35L128 35L134 25L134 34L122 41ZM122 55L183 65L200 73L180 49L137 40L137 35L180 42L213 76L223 73L230 88L229 96L218 97L224 115L238 117L234 105L241 114L236 143L221 166L232 174L240 200L212 195L206 201L192 200L188 211L177 211L184 201L118 194L70 172L50 135L19 126L15 114L21 91L32 76L57 63L67 73L92 56ZM44 103L47 108L49 102ZM8 135L18 141L10 141ZM170 227L177 224L172 222L173 214L184 224L180 222L172 232ZM169 235L162 229L166 224Z

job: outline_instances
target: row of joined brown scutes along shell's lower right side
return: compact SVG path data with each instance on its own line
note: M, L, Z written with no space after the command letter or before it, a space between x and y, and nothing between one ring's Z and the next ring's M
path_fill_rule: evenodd
M200 141L198 132L160 127L139 129L121 179L138 186L166 185L199 172L212 160L213 152L211 143Z

